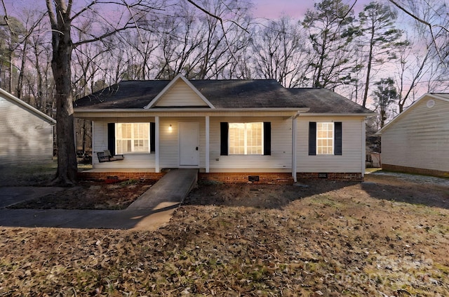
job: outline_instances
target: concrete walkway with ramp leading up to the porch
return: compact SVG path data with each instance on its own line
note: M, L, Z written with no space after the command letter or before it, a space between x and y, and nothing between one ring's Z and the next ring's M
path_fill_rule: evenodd
M60 191L63 195L63 188L0 187L0 226L156 230L168 223L175 209L192 190L197 175L197 169L169 171L123 211L5 209L26 199L48 194L48 191Z

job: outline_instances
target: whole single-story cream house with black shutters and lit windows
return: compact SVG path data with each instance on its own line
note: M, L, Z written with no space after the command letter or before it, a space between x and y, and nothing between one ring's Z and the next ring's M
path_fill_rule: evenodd
M181 75L121 81L74 106L75 117L93 121L93 171L85 178L197 168L199 178L228 182L362 180L365 119L374 115L325 88ZM100 162L104 150L124 159Z

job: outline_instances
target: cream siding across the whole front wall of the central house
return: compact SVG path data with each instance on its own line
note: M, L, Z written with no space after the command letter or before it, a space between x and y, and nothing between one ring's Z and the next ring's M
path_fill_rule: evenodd
M120 119L130 122L130 118ZM151 122L151 118L135 118L135 122ZM220 122L271 123L271 155L229 154L220 155ZM309 156L309 121L342 121L341 156L321 154ZM107 123L111 119L95 121L93 125L93 164L95 169L154 169L155 154L125 154L123 161L98 163L96 152L107 150ZM159 167L180 166L179 125L185 122L199 123L199 168L206 168L206 119L205 117L159 117ZM292 171L292 118L291 117L213 117L210 116L210 172L291 172ZM171 125L171 131L170 131ZM297 172L346 172L359 173L363 168L363 117L298 117L297 118Z

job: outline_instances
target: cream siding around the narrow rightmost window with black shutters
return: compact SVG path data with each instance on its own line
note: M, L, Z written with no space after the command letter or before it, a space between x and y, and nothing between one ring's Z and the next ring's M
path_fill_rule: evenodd
M342 155L316 154L309 156L309 122L342 122ZM297 119L297 172L359 173L362 171L363 117L298 117ZM362 152L363 151L363 152Z

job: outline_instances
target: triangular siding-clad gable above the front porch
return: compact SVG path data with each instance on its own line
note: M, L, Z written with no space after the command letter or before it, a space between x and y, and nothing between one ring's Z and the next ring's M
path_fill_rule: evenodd
M156 103L156 107L208 106L192 88L178 80Z

